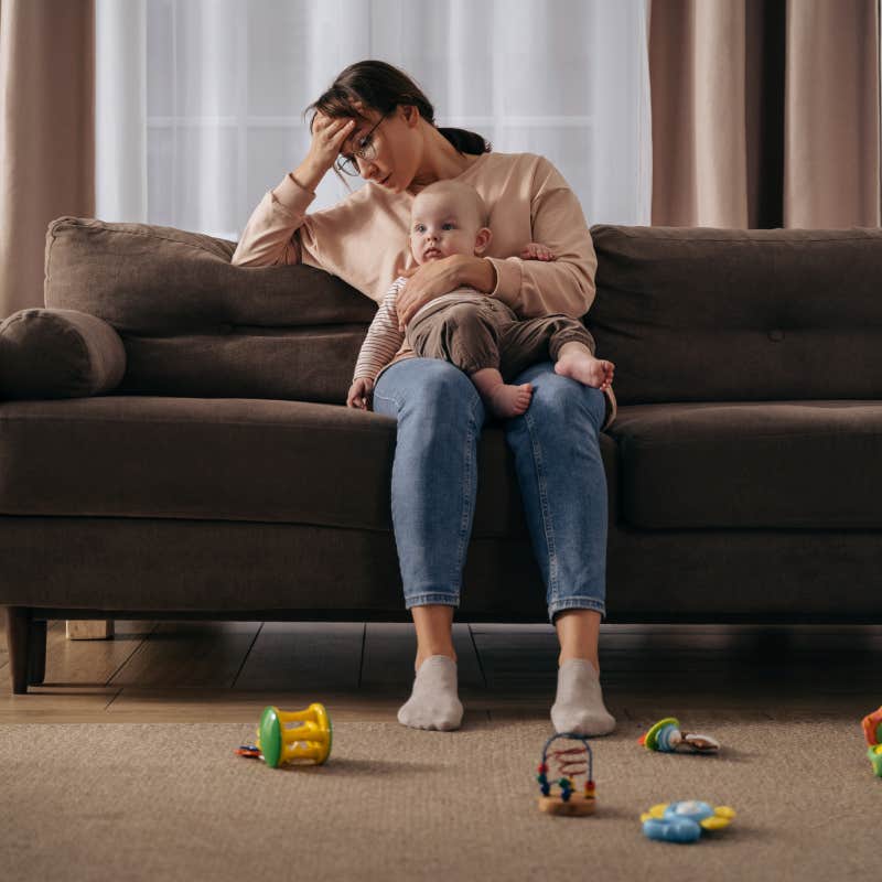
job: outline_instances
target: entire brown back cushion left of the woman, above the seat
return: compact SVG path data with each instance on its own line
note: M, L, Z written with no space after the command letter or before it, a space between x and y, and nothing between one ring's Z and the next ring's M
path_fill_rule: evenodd
M173 227L60 217L46 234L45 304L117 330L119 394L345 402L374 301L313 267L235 267L235 248Z

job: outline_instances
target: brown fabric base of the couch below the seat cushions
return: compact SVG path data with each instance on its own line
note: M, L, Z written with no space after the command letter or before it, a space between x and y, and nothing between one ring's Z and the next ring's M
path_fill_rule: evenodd
M172 518L0 517L9 605L399 621L390 533ZM610 533L610 621L875 621L879 533ZM97 617L86 614L86 617ZM530 544L473 538L460 622L547 622Z

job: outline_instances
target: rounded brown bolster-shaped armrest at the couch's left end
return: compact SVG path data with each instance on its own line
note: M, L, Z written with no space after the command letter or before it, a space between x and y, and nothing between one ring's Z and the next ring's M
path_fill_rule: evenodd
M126 373L116 330L77 310L19 310L0 324L0 398L82 398Z

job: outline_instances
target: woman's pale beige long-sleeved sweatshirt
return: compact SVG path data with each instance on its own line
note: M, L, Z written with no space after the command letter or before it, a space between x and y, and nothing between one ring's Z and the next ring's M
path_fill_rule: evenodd
M493 238L484 256L496 270L496 287L488 295L521 319L584 315L594 300L598 260L579 200L551 162L535 153L482 153L455 180L474 186L490 209ZM314 198L287 174L263 194L232 262L306 263L380 304L396 269L416 263L408 238L415 196L368 182L336 205L306 214ZM548 246L556 260L521 260L527 241ZM404 343L386 367L412 356Z

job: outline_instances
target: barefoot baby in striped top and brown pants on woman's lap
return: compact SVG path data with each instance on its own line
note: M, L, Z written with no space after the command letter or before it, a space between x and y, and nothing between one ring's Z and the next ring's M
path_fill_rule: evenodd
M487 222L486 204L474 187L462 181L430 184L411 209L413 259L422 265L456 254L480 257L493 235ZM538 243L528 243L519 257L555 259ZM613 363L594 357L594 338L578 319L562 314L518 319L501 300L472 288L430 300L400 332L395 303L406 283L405 277L392 282L370 323L346 396L348 407L367 408L377 374L405 336L416 355L444 358L465 372L488 411L501 418L523 413L533 396L531 384L513 386L507 380L549 357L556 362L557 374L599 389L612 384Z

